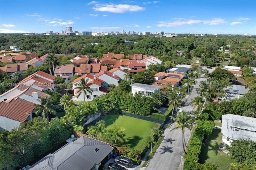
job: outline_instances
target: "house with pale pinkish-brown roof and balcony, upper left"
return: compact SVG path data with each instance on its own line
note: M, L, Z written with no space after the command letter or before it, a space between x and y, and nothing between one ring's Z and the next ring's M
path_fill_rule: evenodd
M62 77L65 81L69 81L73 77L74 69L74 64L56 65L54 75L55 77Z

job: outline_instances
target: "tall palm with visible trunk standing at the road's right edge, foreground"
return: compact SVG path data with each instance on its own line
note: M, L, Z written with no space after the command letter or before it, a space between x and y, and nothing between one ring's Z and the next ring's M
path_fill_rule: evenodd
M176 117L172 117L172 119L177 123L172 130L178 129L178 128L181 128L181 130L182 130L182 136L183 136L182 137L182 146L183 146L183 150L184 150L185 154L187 154L185 147L184 147L184 142L186 145L184 133L185 133L185 128L189 128L189 129L191 128L192 123L194 122L194 119L192 119L192 117L186 111L181 111L181 112L176 113Z

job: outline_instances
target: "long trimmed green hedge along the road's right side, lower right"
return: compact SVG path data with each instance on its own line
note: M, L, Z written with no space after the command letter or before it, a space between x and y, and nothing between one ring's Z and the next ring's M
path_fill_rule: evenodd
M202 140L208 138L216 124L213 121L198 121L197 128L193 133L188 147L184 170L197 170L194 161L199 160L199 154L202 148Z

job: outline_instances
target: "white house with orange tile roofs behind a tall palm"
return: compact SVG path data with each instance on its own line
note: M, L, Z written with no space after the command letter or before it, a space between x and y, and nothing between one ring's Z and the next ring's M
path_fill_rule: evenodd
M87 92L86 96L84 97L84 92L81 93L80 96L78 96L78 91L79 89L76 89L79 87L79 83L81 79L85 79L87 81L88 87L92 89L92 94ZM73 87L72 89L74 90L74 95L73 95L73 101L92 101L94 98L101 96L101 95L106 95L108 93L108 89L104 87L105 81L102 79L97 78L95 75L90 75L90 74L85 74L82 75L81 77L78 77L75 79L73 82Z

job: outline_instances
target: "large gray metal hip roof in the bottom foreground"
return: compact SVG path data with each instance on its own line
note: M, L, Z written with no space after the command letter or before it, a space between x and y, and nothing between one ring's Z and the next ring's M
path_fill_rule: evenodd
M55 154L45 156L29 170L90 170L113 149L108 143L82 136Z

